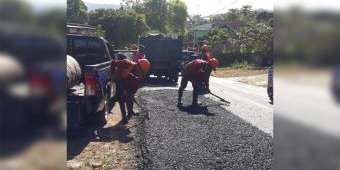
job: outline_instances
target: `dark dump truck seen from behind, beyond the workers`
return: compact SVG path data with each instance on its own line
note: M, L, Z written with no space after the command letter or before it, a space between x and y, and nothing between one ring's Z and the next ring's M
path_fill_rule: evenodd
M182 37L149 34L140 37L139 44L145 46L145 56L151 64L150 75L178 81L178 73L181 71Z

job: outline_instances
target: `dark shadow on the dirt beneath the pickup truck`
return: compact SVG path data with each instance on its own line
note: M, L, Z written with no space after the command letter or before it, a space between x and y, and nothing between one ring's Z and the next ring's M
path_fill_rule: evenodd
M133 139L126 125L117 124L111 127L87 127L69 131L67 134L67 160L79 155L90 142L128 143Z

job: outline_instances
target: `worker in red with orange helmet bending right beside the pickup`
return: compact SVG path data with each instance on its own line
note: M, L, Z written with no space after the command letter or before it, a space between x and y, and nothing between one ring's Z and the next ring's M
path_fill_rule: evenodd
M112 75L115 75L116 97L122 113L121 122L124 124L132 115L136 115L133 111L134 94L149 68L147 59L139 59L138 62L129 59L112 60L111 71Z

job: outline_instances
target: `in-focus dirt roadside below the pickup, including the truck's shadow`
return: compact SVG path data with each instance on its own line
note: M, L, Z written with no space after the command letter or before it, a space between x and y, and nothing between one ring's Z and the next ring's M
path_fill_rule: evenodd
M138 108L134 108L138 112ZM127 125L119 124L121 113L116 104L102 128L89 127L69 132L67 139L67 169L126 170L136 169L139 157L134 136L137 118Z

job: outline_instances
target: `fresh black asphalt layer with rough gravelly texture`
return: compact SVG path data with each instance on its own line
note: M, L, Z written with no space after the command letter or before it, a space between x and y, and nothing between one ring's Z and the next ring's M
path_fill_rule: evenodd
M137 95L150 116L137 129L139 169L273 169L273 138L220 102L200 96L193 108L192 91L185 91L177 108L177 90Z

